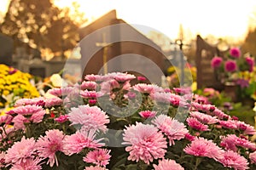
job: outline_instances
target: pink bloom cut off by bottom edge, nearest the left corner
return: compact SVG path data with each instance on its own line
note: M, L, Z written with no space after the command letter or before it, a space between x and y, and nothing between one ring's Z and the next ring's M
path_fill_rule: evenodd
M10 170L21 170L21 169L26 169L26 170L40 170L42 169L40 161L41 159L26 159L26 162L21 161L20 163L15 163L13 167L10 168Z

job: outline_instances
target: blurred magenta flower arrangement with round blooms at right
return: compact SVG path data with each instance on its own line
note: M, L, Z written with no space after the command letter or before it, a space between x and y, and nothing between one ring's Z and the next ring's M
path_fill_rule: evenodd
M215 56L212 68L220 82L225 85L237 85L239 97L254 97L256 93L256 77L254 58L250 54L241 56L239 48L230 48L224 57Z

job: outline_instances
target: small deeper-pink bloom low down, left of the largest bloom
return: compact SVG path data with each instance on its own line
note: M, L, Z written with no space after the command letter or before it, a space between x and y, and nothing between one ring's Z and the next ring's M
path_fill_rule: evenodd
M85 157L84 161L94 163L96 166L106 167L110 161L110 150L99 149L90 151Z

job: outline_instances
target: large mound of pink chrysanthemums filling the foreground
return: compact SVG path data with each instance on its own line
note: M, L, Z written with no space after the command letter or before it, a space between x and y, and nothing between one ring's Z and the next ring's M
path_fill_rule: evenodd
M191 93L87 75L0 116L1 169L255 168L255 129Z

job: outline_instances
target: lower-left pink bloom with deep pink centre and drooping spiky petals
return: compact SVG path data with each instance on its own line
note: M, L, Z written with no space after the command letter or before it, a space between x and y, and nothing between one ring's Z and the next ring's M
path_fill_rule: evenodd
M49 158L47 164L50 167L56 162L58 166L58 160L55 156L57 151L63 151L63 142L64 134L58 129L49 130L45 133L46 135L40 136L37 143L38 156L42 158Z

